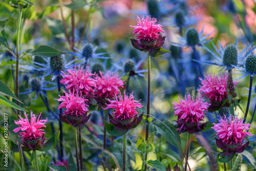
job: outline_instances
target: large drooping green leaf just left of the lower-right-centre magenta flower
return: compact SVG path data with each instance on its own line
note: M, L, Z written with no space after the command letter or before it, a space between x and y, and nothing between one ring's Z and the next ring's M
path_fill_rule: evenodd
M169 129L172 131L170 131L165 125L168 126ZM179 145L179 142L181 142L180 134L178 133L178 131L176 130L173 124L171 124L167 120L163 121L163 123L160 121L155 121L150 123L149 128L151 132L158 132L162 134L162 136L166 139L166 141L176 146L179 149L181 155L183 155L182 149ZM179 142L176 140L175 136L177 137Z

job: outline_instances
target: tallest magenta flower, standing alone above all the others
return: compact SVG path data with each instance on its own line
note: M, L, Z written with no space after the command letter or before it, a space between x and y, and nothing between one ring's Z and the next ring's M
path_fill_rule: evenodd
M156 55L156 50L159 50L165 41L165 36L162 37L160 34L160 32L164 32L163 26L156 22L157 19L151 18L150 15L147 15L146 18L137 16L137 26L131 26L134 28L133 35L137 34L137 39L131 38L133 47L140 51L146 51L151 56Z

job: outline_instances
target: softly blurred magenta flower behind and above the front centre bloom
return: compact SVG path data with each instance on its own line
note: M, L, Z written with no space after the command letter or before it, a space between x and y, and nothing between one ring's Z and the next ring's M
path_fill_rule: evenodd
M104 106L106 98L112 99L115 94L120 92L119 88L124 88L124 81L118 77L117 73L111 73L110 71L104 72L99 71L99 75L96 75L94 79L96 80L95 86L95 99L99 105Z

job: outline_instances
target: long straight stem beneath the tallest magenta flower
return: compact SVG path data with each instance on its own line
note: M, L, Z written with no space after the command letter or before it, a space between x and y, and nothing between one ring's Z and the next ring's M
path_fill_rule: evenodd
M148 121L147 119L150 117L150 95L151 95L151 61L150 55L147 55L147 108L146 108L146 141L148 140L149 130L148 130ZM145 155L145 160L146 160ZM146 168L146 165L145 165Z

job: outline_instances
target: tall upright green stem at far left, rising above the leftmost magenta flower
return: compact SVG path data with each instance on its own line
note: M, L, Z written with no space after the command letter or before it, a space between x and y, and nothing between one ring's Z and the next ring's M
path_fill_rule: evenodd
M16 85L15 85L15 92L16 97L18 97L18 60L19 60L19 39L20 39L20 30L22 30L22 8L19 9L18 13L18 27L17 27L17 38L16 38ZM17 101L17 105L19 105L19 101ZM19 110L17 111L19 115Z

